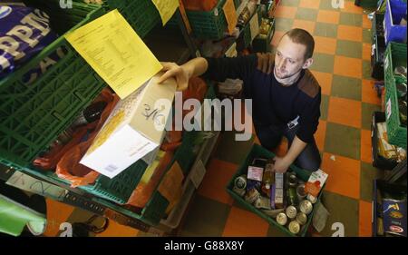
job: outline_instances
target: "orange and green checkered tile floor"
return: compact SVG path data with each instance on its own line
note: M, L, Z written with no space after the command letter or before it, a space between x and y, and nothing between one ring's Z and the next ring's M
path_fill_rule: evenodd
M330 174L323 202L330 212L325 230L313 236L331 236L332 224L341 222L345 236L371 236L372 181L383 172L371 164L371 114L381 110L371 79L371 21L368 10L345 0L344 9L334 9L332 0L281 0L276 11L277 30L273 44L292 27L300 27L316 40L313 74L322 87L322 117L316 142L322 153L321 168ZM190 201L176 231L180 236L281 236L256 214L239 206L225 191L238 165L254 142L235 142L233 132L224 132L210 159L208 172ZM58 232L59 222L85 221L89 213L48 202L51 221L46 235ZM313 228L311 228L313 229ZM143 236L138 230L112 221L103 236Z

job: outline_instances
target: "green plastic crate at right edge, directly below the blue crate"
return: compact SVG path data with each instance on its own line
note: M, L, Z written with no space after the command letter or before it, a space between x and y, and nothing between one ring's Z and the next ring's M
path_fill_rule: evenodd
M398 65L406 66L406 44L390 42L384 56L385 117L388 142L406 149L406 127L401 125L393 70ZM406 80L404 80L406 83Z

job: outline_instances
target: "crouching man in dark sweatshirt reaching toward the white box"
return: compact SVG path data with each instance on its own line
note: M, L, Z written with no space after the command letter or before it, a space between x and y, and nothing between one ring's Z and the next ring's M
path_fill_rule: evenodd
M227 78L244 81L244 95L252 99L257 137L268 150L286 136L289 150L275 158L275 172L286 172L290 164L316 171L321 158L314 134L320 117L321 88L307 69L313 64L315 41L303 29L282 36L275 56L250 54L233 58L195 58L186 64L163 63L167 71L160 82L175 77L179 90L190 77L203 75L214 81Z

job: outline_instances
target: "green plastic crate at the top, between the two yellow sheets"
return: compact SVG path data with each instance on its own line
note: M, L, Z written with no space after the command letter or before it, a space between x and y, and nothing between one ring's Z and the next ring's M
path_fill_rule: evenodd
M159 11L151 0L105 0L108 10L118 9L141 38L161 22Z

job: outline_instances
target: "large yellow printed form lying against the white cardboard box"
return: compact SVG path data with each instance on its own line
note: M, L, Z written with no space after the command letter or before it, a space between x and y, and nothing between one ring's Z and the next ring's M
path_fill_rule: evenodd
M121 99L162 68L118 10L65 34L65 38Z

